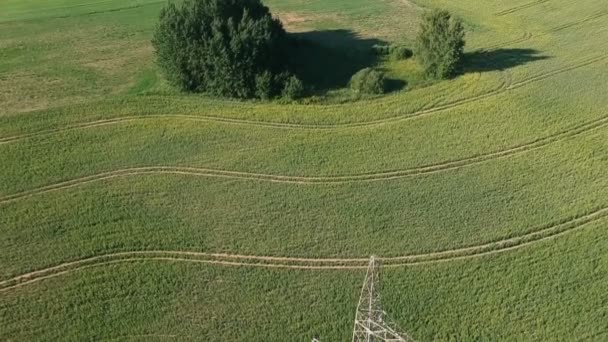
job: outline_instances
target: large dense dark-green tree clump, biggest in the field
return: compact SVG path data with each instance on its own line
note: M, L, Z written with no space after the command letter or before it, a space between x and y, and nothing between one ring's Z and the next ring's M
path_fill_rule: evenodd
M153 45L171 83L235 98L278 95L286 33L260 0L185 0L160 14Z

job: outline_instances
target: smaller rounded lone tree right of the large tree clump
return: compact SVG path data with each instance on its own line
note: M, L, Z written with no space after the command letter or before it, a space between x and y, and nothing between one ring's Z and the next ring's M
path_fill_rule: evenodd
M464 51L462 21L447 11L435 10L424 16L416 40L417 57L427 77L453 76Z

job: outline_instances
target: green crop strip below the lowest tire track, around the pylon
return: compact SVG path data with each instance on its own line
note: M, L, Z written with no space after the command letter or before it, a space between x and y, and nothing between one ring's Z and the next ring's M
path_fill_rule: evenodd
M386 269L382 301L418 340L602 341L605 237L605 225L593 225L508 254ZM350 337L362 277L124 263L3 293L0 314L3 335L26 340L340 341Z

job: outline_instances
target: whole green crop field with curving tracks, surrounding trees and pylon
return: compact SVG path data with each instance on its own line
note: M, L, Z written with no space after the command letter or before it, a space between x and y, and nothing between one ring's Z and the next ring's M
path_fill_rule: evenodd
M344 48L447 9L463 70L188 95L166 1L0 0L0 340L348 341L370 255L416 341L608 340L606 0L265 3Z

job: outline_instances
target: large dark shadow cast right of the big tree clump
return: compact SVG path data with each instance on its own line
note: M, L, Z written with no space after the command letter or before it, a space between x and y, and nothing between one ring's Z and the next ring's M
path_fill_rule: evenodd
M290 69L317 93L348 86L357 71L374 67L380 56L374 46L388 45L379 39L362 38L350 30L290 33ZM396 91L405 82L389 80Z

